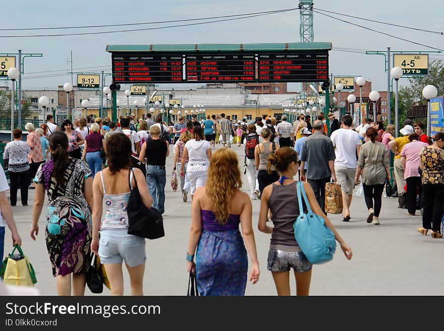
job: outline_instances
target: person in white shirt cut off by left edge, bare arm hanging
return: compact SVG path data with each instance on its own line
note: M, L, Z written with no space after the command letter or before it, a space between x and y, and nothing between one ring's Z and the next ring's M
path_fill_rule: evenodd
M22 238L20 238L12 215L11 204L6 196L7 190L9 190L8 180L2 165L0 165L0 261L2 262L5 246L5 225L8 225L11 230L13 246L22 245Z

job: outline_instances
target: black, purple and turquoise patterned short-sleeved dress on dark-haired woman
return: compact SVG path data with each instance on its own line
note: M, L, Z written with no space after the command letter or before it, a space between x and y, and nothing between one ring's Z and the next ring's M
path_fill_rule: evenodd
M65 170L64 184L52 177L52 160L42 164L34 181L43 184L48 194L46 221L46 247L52 264L52 275L84 274L87 272L91 255L91 211L83 193L85 179L92 175L89 166L69 158ZM72 198L76 205L62 204L58 208L56 199ZM54 212L55 211L55 212Z

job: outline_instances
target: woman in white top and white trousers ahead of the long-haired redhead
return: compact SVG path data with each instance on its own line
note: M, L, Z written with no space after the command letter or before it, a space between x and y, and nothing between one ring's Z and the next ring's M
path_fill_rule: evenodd
M193 128L194 139L189 140L184 147L181 160L180 176L185 173L185 163L187 165L187 176L191 184L191 199L196 188L205 186L209 159L211 158L211 144L205 140L203 130L199 125Z

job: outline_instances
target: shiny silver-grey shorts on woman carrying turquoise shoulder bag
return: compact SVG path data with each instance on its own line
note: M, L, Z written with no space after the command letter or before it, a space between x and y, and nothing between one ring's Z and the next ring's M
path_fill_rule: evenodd
M289 271L293 268L297 273L305 273L311 269L312 264L303 252L291 252L280 249L268 251L267 270L275 273Z

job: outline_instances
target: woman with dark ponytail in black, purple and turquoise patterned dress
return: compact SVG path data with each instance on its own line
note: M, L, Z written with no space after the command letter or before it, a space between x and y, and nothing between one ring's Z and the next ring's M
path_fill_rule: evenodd
M92 173L85 162L68 156L68 137L63 131L49 136L49 150L51 160L40 166L34 178L31 238L35 240L39 232L46 190L45 238L57 293L71 295L72 287L74 295L84 295L91 254Z

